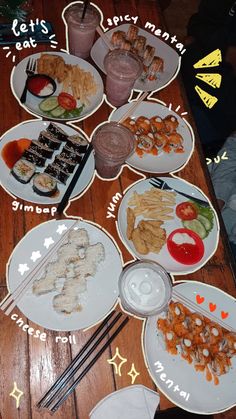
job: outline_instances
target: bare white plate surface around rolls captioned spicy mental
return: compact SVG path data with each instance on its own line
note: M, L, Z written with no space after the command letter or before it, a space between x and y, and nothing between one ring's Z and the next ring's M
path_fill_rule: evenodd
M124 31L127 33L129 24L120 25L116 28L111 29L110 31L106 32L106 35L109 39L111 39L113 32L116 32L118 30ZM164 71L163 73L158 74L157 80L154 81L146 81L142 82L140 79L136 81L134 85L134 90L138 91L157 91L160 89L163 89L163 87L167 86L171 80L173 80L180 68L180 57L178 53L171 48L168 44L161 41L151 33L145 31L144 29L139 28L139 35L145 36L147 39L146 44L151 45L152 47L155 47L156 53L155 55L158 55L159 57L163 58L164 60ZM93 45L90 55L93 59L93 61L97 64L97 66L103 71L103 73L106 74L105 68L104 68L104 58L106 54L108 53L108 47L104 43L104 41L99 38L95 44Z

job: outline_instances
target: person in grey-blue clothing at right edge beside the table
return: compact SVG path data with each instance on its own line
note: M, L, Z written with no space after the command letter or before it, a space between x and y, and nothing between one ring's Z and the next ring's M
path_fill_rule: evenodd
M224 153L228 159L213 162L208 169L236 261L236 131L227 138L218 154Z

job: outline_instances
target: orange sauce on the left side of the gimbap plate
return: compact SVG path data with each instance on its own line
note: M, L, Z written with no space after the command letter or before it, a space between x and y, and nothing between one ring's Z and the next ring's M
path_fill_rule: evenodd
M14 164L21 158L27 148L29 148L31 140L28 138L20 138L13 140L3 146L1 155L9 169L12 169Z

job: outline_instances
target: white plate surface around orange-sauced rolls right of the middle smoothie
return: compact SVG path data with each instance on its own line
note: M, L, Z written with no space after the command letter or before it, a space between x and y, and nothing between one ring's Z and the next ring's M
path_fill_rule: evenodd
M110 119L112 121L119 121L132 105L133 102L116 109ZM156 102L140 103L132 115L130 115L130 118L137 119L139 116L152 118L155 115L160 116L162 119L167 115L173 115L177 118L179 122L177 132L183 137L184 153L165 153L160 150L157 156L146 153L142 157L139 157L134 152L126 162L135 169L148 173L168 173L179 170L187 163L193 153L194 138L190 128L177 113L170 111L166 106Z

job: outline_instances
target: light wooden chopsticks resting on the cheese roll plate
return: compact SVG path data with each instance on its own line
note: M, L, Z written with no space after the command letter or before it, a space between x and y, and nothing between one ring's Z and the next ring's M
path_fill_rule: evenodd
M27 290L32 286L35 276L39 277L48 261L55 255L57 250L62 246L62 244L67 239L69 232L75 227L78 221L75 221L71 227L66 231L66 233L60 237L60 239L55 243L54 246L50 249L48 253L40 260L40 262L35 266L34 269L25 277L25 279L20 283L20 285L13 291L12 294L8 294L6 298L0 303L0 309L5 312L8 316L14 307L18 304L21 298L25 295Z

